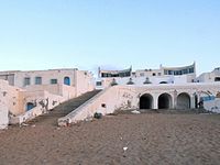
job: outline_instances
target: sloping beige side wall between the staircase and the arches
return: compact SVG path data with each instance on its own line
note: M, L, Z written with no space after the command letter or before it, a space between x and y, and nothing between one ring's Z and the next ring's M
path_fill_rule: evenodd
M67 125L92 118L95 112L101 112L105 116L119 109L135 109L138 108L138 98L134 97L134 88L123 86L109 87L66 117L58 119L58 125Z

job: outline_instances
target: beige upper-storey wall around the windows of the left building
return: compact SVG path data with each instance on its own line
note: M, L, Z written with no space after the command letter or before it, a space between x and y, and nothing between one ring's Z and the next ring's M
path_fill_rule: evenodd
M14 75L10 79L9 76ZM24 86L24 78L30 78L30 85ZM35 78L42 77L42 84L36 85ZM57 85L64 85L64 78L69 77L70 87L75 88L75 94L72 90L70 97L79 96L87 91L95 89L94 75L86 70L78 69L52 69L52 70L33 70L33 72L0 72L0 79L14 80L13 84L16 87L28 89L36 88L37 90L47 90L55 95L62 95L62 89L56 89L54 85L51 85L51 79L57 79ZM12 82L11 82L12 84ZM66 92L64 92L66 95Z

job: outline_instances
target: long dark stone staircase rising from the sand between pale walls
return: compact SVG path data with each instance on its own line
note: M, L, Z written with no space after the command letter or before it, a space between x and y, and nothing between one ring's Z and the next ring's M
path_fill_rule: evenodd
M35 119L29 121L29 124L52 124L57 125L58 118L65 117L76 108L81 106L84 102L96 96L101 90L92 90L86 92L77 98L70 99L50 110L48 113L36 117Z

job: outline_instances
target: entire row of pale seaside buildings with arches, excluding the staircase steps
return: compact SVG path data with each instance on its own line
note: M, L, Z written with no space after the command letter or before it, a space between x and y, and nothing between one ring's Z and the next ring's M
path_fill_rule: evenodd
M197 77L196 64L182 67L122 70L99 68L98 78L90 72L69 69L0 72L0 125L22 123L50 109L94 89L105 89L80 109L61 119L61 123L85 119L96 111L117 109L191 109L201 101L209 109L220 109L213 100L220 97L220 68ZM111 98L111 99L110 99ZM212 103L210 103L212 101ZM88 103L88 102L87 102ZM90 109L90 106L92 109ZM85 106L86 107L86 106Z

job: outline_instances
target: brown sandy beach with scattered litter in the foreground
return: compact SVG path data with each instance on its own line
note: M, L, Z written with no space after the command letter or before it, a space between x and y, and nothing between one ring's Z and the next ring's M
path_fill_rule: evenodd
M32 122L0 131L1 165L217 165L218 114L117 114L58 128Z

